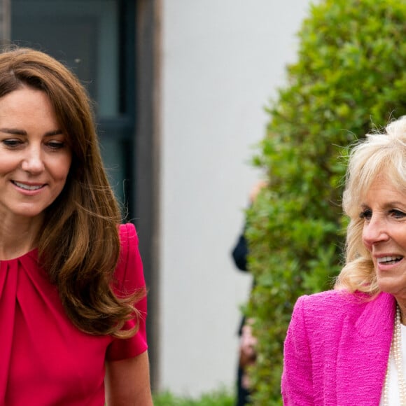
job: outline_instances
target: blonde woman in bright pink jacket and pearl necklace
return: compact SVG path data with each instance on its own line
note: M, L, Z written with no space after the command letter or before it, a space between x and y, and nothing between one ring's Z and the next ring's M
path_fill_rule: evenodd
M353 148L346 265L300 297L284 352L285 405L406 405L406 120Z

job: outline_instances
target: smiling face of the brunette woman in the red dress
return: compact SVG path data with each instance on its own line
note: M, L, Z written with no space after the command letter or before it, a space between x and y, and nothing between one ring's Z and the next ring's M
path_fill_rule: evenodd
M42 218L69 174L66 137L45 92L22 87L0 98L0 218Z

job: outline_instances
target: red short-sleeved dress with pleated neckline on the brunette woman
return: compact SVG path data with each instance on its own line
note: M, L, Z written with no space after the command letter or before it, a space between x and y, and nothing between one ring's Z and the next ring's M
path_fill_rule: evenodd
M134 225L120 226L116 280L133 291L145 286ZM90 335L64 312L57 289L37 263L38 251L0 261L0 405L103 406L104 361L146 351L146 298L131 339ZM134 325L130 321L127 325Z

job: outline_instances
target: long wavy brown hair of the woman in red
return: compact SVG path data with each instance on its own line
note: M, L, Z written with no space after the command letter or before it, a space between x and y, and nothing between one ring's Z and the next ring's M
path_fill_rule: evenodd
M43 52L10 48L0 54L0 97L23 85L42 90L72 150L62 193L45 211L38 258L59 291L66 314L90 334L130 337L144 292L117 297L113 274L120 255L120 209L99 152L91 102L78 78Z

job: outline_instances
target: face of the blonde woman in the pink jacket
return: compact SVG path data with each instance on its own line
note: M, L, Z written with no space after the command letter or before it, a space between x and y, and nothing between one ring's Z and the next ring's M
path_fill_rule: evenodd
M360 217L379 288L406 297L406 195L379 177L365 196Z

